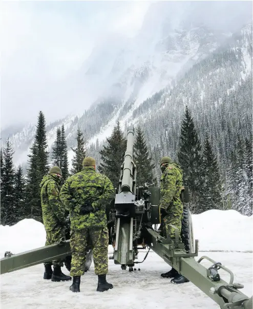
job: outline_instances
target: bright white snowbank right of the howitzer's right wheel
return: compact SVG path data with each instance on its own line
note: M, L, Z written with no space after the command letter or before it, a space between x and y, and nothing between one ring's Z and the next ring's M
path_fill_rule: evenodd
M193 226L201 251L252 252L253 216L213 209L193 215Z

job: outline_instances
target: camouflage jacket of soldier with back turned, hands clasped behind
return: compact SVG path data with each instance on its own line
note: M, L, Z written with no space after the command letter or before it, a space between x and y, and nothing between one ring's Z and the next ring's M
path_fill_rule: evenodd
M92 166L83 167L79 173L70 176L60 190L60 200L70 212L72 230L107 227L106 206L113 198L112 182ZM96 211L82 215L79 213L80 207L86 201L90 201Z

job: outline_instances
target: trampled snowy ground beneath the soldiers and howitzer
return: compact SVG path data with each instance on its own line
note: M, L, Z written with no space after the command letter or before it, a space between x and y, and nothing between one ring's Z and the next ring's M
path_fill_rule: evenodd
M139 254L141 261L145 253ZM242 290L252 294L252 254L202 252L200 254L221 261L235 274L235 282L244 284ZM206 266L210 264L204 263ZM37 265L15 273L1 275L1 309L215 309L219 306L191 282L175 285L170 279L160 277L170 267L154 252L149 253L136 272L122 271L109 260L108 282L114 289L98 293L94 266L81 277L80 293L69 291L71 282L43 280L43 265ZM68 274L68 271L64 269ZM220 272L222 278L228 276Z

